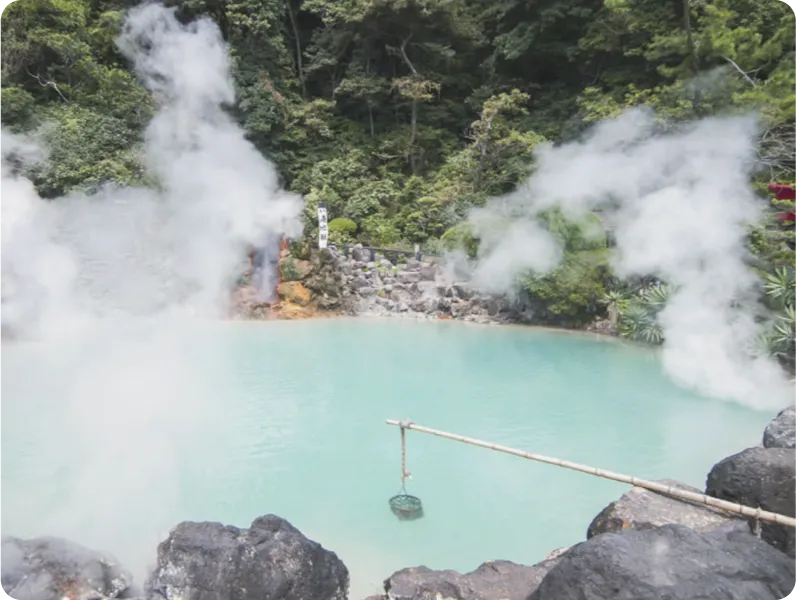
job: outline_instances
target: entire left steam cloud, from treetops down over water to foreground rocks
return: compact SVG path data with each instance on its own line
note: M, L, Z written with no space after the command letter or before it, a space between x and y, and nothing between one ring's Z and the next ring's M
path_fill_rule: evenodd
M37 397L58 400L9 432L52 479L7 480L0 529L109 549L140 574L184 516L178 455L223 422L210 398L224 382L197 372L181 327L226 314L248 247L300 233L302 202L224 111L234 92L215 24L149 4L128 14L118 46L159 103L144 136L158 189L45 202L16 166L46 152L0 130L0 324L46 339L34 360L52 363L47 382L7 377L4 402L21 420ZM34 459L15 460L18 472ZM76 473L64 482L57 465Z

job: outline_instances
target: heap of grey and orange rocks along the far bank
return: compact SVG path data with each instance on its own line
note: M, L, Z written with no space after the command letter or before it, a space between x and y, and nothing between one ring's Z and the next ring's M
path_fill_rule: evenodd
M279 259L278 300L258 302L257 290L244 274L236 291L233 316L239 319L306 319L324 316L375 316L454 319L479 324L534 323L537 309L518 294L477 289L464 260L392 262L361 246L348 256L334 247L283 250ZM587 329L612 335L606 321Z

